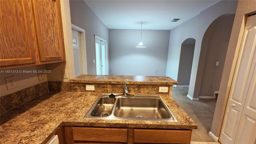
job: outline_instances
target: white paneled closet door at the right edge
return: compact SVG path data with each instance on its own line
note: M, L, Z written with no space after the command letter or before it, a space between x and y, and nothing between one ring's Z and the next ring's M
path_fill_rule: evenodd
M256 15L250 16L246 22L246 28L244 30L244 36L242 39L242 45L240 47L240 52L238 55L238 61L236 63L236 70L234 73L234 79L232 81L230 95L228 100L228 105L226 108L224 122L222 126L222 130L220 133L220 142L222 144L234 144L236 135L238 132L238 137L244 134L250 135L247 132L250 129L243 131L245 127L248 127L248 124L245 124L245 121L252 120L250 118L255 117L254 112L247 112L243 111L245 107L246 98L255 100L255 86L253 86L252 81L255 82L255 71L254 67L256 64ZM249 102L248 102L249 103ZM255 110L255 103L256 101L252 101L252 103L246 103L246 105L250 106L251 110ZM250 118L246 117L246 114L254 114L254 116L249 116ZM244 122L243 124L240 124ZM247 119L246 119L247 118ZM240 128L238 129L238 126ZM245 126L245 127L244 127ZM255 119L252 120L250 126L254 126L255 131ZM252 127L253 128L253 127ZM241 133L242 132L242 133ZM239 135L240 134L240 135ZM255 134L254 134L255 137ZM243 140L237 139L236 141ZM249 139L251 140L251 139ZM255 138L254 138L255 140ZM238 142L239 143L239 142ZM242 143L241 143L242 144ZM243 143L246 144L246 143ZM248 143L249 144L249 143Z

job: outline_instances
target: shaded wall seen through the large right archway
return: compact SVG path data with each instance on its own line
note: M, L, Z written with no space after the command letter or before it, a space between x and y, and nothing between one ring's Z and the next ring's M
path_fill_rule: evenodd
M220 80L222 77L222 71L224 68L224 62L228 49L228 42L234 22L234 14L224 16L216 24L209 26L212 30L206 30L202 43L206 41L206 57L204 61L204 71L202 75L202 82L200 87L200 96L212 96L214 91L219 91ZM205 39L206 36L206 39ZM200 53L201 57L202 53ZM216 61L219 61L219 65L216 66ZM212 88L211 86L214 85Z

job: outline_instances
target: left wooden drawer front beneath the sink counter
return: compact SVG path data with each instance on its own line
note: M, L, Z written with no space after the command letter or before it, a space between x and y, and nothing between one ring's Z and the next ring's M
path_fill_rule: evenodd
M73 127L73 138L90 142L127 142L126 128Z

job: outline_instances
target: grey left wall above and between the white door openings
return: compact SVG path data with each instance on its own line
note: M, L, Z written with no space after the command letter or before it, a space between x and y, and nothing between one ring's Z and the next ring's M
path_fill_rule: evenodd
M70 0L70 15L71 23L85 30L87 71L88 74L95 75L96 68L95 63L93 63L93 59L95 59L94 35L108 41L108 28L83 0Z

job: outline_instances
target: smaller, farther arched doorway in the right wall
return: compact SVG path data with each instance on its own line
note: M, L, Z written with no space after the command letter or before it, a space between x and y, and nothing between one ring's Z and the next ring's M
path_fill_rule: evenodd
M180 86L189 86L196 39L188 38L181 44L178 78Z

